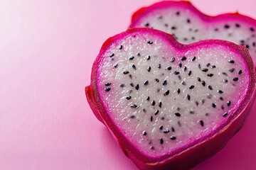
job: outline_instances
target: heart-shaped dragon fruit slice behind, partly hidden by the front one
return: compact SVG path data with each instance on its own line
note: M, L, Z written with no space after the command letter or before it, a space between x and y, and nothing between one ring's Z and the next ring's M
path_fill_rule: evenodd
M256 66L256 21L239 13L207 16L189 1L162 1L134 13L130 28L137 27L162 30L183 44L219 39L245 45Z

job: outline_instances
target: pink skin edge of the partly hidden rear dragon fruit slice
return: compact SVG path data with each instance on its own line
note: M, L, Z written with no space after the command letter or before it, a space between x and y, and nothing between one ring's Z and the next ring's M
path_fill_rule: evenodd
M159 3L153 4L148 7L140 8L132 15L132 21L129 28L137 28L137 23L139 19L146 16L151 11L159 8L167 8L168 6L181 6L183 8L188 8L189 11L195 13L203 21L206 22L217 22L218 21L240 21L241 23L247 23L249 26L256 28L256 20L248 16L241 15L240 13L223 13L218 16L208 16L201 11L199 11L190 1L161 1ZM254 60L256 69L256 55L251 55Z

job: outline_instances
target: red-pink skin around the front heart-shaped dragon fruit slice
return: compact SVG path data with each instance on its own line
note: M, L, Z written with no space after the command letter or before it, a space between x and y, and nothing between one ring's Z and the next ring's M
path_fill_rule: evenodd
M115 35L112 38L106 40L106 42L102 45L100 50L100 54L96 58L93 66L92 66L92 74L91 74L91 84L90 86L85 87L85 94L87 97L87 101L92 108L95 116L104 123L107 128L112 133L112 136L117 141L119 146L122 148L124 154L127 155L134 164L136 164L139 169L190 169L196 164L202 162L205 159L213 156L216 152L222 149L225 144L230 140L236 132L242 128L242 124L244 123L247 114L250 111L252 103L255 98L255 83L256 83L256 74L253 66L252 58L250 57L248 50L244 46L235 45L232 42L224 41L224 40L203 40L201 42L196 42L191 45L182 45L178 43L173 36L163 33L158 30L151 30L148 28L134 28L127 30L125 33L132 33L136 31L154 31L157 35L161 35L163 38L168 39L172 45L177 47L180 50L186 50L189 47L196 47L197 45L208 45L211 43L218 42L218 44L228 45L237 52L240 53L245 58L245 61L248 65L248 72L250 73L250 85L248 88L248 93L245 96L244 101L242 102L242 106L238 108L238 110L234 113L234 117L228 125L225 126L219 132L216 132L212 137L208 137L208 139L203 140L198 144L195 144L193 147L190 147L183 152L180 152L175 155L164 155L164 157L149 157L147 155L142 154L139 150L134 147L128 140L122 135L121 132L117 130L114 125L114 122L110 119L107 111L105 110L105 106L102 105L100 98L97 94L97 66L100 62L100 57L102 57L101 53L105 51L106 47L115 39L120 38L120 35Z

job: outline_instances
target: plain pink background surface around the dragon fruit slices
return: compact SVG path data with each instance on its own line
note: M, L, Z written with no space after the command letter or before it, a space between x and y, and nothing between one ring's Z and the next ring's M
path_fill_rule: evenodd
M225 2L223 2L225 1ZM108 37L153 0L0 1L0 169L137 169L84 93ZM255 0L192 1L256 18ZM199 169L256 169L256 103L244 127Z

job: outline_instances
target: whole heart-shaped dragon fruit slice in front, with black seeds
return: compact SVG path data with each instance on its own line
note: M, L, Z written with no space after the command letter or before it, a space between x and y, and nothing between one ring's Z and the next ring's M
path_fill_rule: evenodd
M105 42L85 92L140 169L187 169L240 129L255 96L255 69L244 46L181 45L135 28Z

